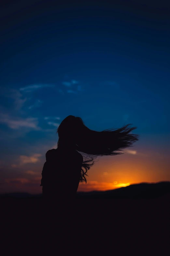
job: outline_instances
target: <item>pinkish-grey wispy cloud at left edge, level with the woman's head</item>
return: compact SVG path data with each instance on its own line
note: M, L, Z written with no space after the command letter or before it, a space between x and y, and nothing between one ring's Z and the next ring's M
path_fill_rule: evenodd
M35 117L28 117L28 118L17 118L17 117L10 117L8 114L1 113L0 116L0 123L7 124L8 127L11 129L19 129L21 127L26 128L33 128L35 130L40 130L41 128L38 127L38 120Z

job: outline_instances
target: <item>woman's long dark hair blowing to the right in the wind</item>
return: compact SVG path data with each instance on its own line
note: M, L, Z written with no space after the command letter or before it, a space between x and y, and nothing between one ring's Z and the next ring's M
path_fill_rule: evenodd
M132 147L133 143L138 141L139 135L131 133L137 127L129 128L129 125L132 124L127 124L119 129L109 128L103 131L94 131L85 126L80 117L73 115L67 116L61 122L56 132L59 137L57 146L59 147L62 143L71 143L83 156L80 182L87 183L85 176L88 176L87 171L94 164L95 158L124 154L125 152L116 151Z

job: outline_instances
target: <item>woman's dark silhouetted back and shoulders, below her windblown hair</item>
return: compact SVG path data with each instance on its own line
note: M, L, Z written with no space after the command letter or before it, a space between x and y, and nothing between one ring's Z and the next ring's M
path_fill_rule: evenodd
M82 155L77 150L51 149L46 153L41 186L45 198L75 197L80 181Z

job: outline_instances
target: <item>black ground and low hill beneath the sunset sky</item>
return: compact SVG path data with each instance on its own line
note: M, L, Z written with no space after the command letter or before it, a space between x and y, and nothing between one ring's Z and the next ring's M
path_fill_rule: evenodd
M11 241L17 245L29 241L27 250L34 238L35 244L40 240L39 249L50 244L55 251L63 241L72 241L75 248L77 243L82 246L82 241L96 241L99 249L106 241L113 250L122 246L127 250L131 245L137 246L138 252L144 249L145 255L152 255L159 246L161 253L154 255L166 255L163 250L169 244L170 182L77 193L77 198L86 200L44 202L41 195L1 195L4 241L10 245Z

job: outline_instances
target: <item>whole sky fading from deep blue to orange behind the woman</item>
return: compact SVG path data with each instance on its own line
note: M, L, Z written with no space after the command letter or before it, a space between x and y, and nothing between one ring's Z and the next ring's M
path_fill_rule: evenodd
M45 154L68 115L140 135L101 157L78 191L170 180L169 4L70 2L1 6L0 193L42 192Z

